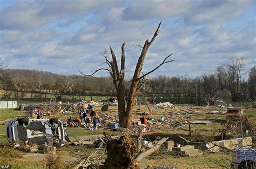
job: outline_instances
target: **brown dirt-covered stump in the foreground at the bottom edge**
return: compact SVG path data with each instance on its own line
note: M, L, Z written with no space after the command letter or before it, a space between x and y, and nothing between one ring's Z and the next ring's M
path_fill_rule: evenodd
M129 136L121 136L107 142L107 158L99 168L140 168L134 160L137 153L136 142Z

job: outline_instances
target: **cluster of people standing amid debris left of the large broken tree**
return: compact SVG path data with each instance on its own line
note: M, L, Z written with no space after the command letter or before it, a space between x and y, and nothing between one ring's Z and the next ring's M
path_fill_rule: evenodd
M88 105L86 107L86 104L79 103L78 104L78 113L79 113L79 118L80 118L81 122L84 120L84 123L88 124L91 121L95 127L96 127L97 123L101 123L99 114L93 110L92 105ZM90 114L90 118L89 118L88 114Z

